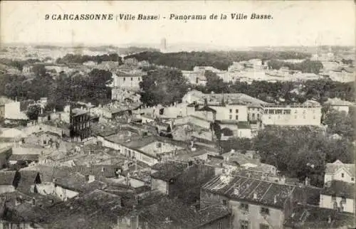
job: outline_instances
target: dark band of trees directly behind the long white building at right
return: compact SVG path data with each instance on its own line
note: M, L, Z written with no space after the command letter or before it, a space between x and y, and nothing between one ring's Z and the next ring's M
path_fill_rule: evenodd
M303 103L316 100L320 103L328 97L354 101L355 87L353 82L335 82L332 80L307 80L305 82L223 82L215 73L206 72L206 87L190 85L204 93L244 93L266 102L280 104Z

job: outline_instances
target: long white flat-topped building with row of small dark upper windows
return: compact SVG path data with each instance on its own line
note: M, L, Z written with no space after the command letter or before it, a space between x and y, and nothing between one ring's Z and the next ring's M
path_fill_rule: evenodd
M266 105L262 123L279 126L320 126L320 105Z

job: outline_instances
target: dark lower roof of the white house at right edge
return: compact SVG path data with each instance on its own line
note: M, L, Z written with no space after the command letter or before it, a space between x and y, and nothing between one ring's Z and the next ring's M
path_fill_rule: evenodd
M355 184L344 181L330 181L329 185L321 192L327 196L338 196L345 198L355 197Z

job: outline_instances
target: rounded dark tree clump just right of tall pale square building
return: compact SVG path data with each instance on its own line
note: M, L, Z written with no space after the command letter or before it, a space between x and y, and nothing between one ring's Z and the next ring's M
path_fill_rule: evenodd
M180 70L169 68L150 71L142 77L141 102L148 106L172 105L187 93L187 80Z

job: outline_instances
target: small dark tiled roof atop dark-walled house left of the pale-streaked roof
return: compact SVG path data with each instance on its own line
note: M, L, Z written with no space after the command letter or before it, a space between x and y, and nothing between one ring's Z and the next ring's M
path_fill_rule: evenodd
M158 163L152 166L152 169L157 170L154 174L151 174L152 178L162 181L169 181L187 169L187 163L179 163L177 161L167 161L164 163Z

